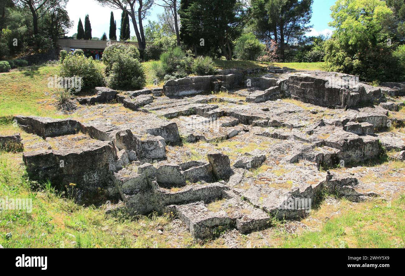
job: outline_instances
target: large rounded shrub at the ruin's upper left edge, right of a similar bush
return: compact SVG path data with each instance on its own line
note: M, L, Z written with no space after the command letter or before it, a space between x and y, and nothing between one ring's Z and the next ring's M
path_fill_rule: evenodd
M111 88L141 89L145 85L142 64L132 53L117 53L107 79Z

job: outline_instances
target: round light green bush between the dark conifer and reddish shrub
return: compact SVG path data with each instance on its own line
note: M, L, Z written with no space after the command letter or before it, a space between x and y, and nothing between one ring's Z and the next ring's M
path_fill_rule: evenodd
M238 59L256 60L265 47L254 34L247 33L235 41L234 53Z

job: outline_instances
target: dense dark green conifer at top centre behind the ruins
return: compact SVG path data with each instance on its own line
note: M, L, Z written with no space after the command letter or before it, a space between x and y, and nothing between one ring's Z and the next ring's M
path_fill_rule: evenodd
M245 25L247 9L241 0L182 0L180 38L194 54L215 55L220 49L232 59L232 41Z

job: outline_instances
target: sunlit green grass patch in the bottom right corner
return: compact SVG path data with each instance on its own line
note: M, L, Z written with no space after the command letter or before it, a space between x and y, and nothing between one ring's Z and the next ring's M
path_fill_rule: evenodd
M392 202L377 199L349 206L320 231L288 235L284 248L403 248L405 246L405 195ZM347 209L346 209L347 208ZM316 216L316 214L315 214Z

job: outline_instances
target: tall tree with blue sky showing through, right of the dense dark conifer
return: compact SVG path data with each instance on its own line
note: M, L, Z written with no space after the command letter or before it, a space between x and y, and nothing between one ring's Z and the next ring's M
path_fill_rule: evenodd
M255 33L261 39L274 39L279 44L281 61L288 58L290 44L300 41L312 27L313 0L252 0ZM256 22L255 22L256 21Z

